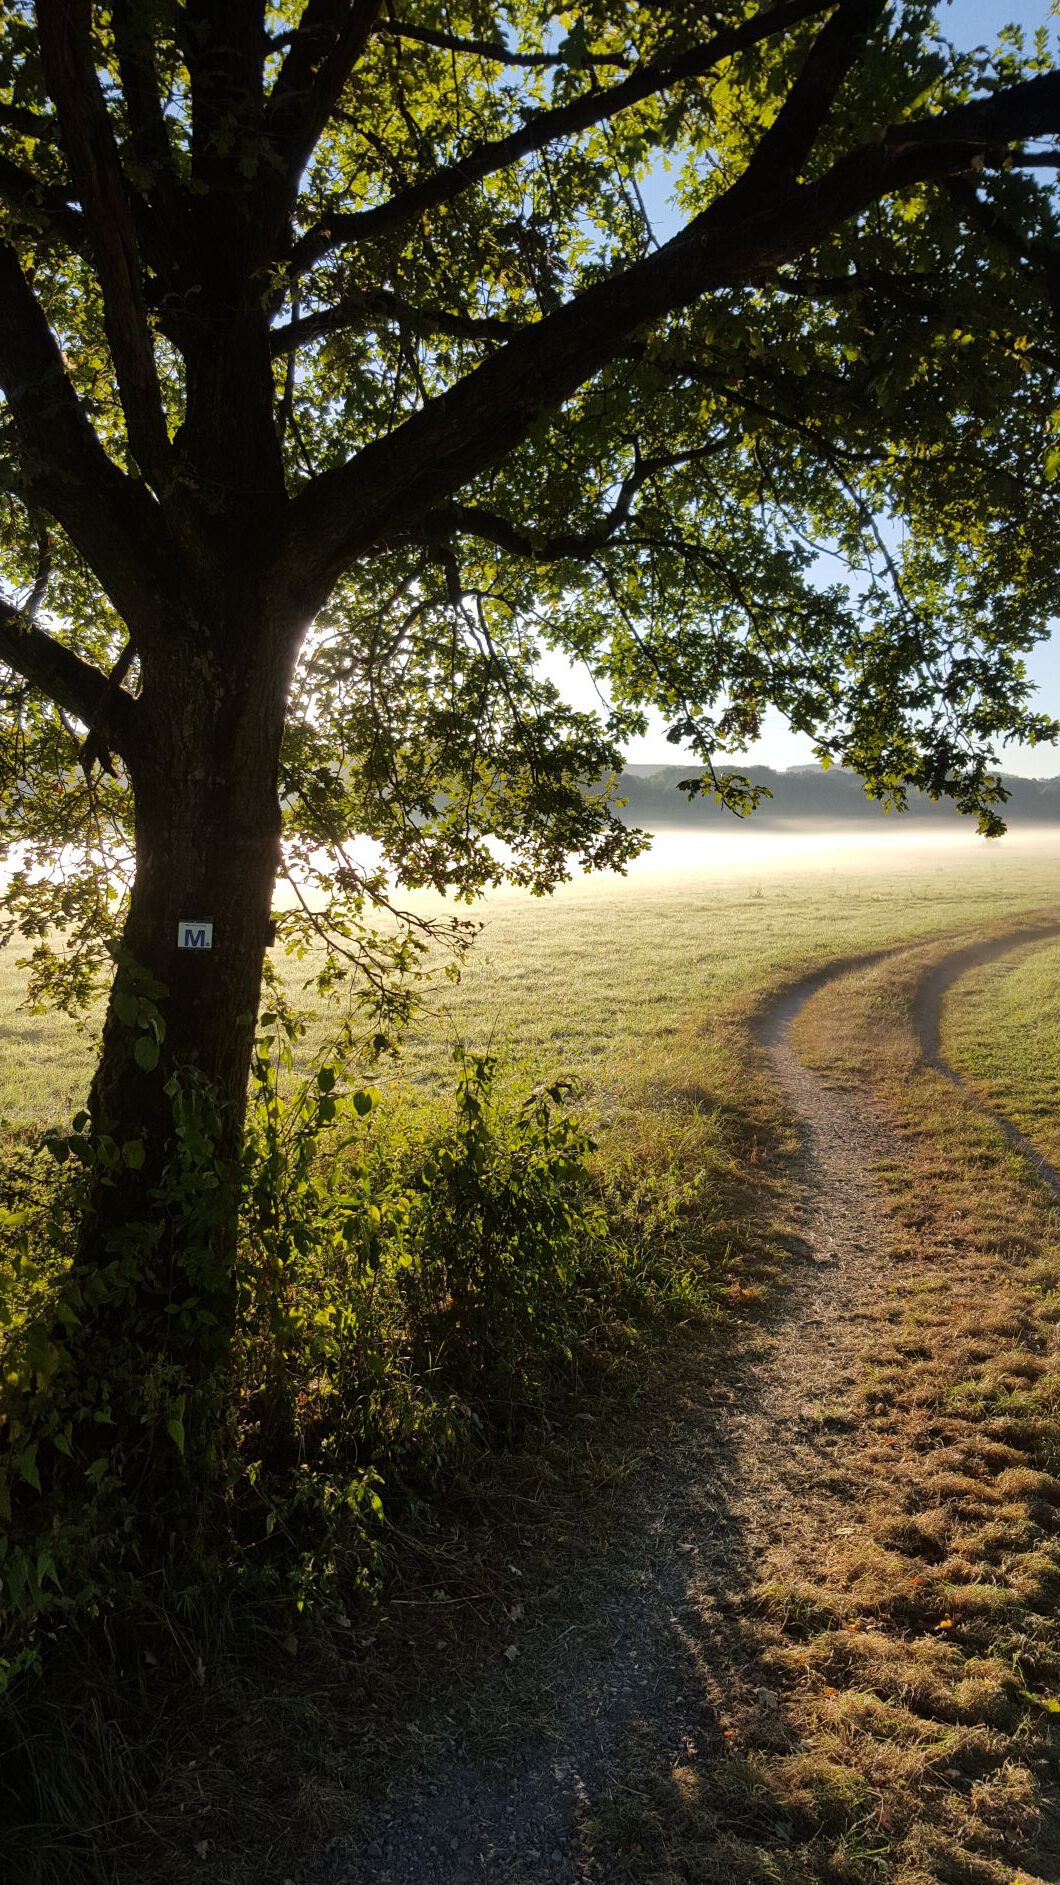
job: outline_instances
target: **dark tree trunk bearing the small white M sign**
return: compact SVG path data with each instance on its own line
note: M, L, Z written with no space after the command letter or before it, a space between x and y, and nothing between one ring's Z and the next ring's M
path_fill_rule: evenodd
M89 1101L77 1259L98 1278L87 1340L126 1357L132 1344L158 1404L198 1402L200 1436L234 1329L238 1157L279 863L290 656L255 626L255 652L228 631L207 656L198 643L143 662L136 880ZM132 1401L143 1433L140 1387Z

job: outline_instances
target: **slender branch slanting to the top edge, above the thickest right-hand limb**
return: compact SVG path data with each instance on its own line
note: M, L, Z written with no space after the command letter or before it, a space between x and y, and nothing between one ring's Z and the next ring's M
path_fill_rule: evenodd
M694 45L671 60L656 60L651 66L641 66L619 85L587 90L581 98L571 100L571 104L536 111L517 132L511 132L507 138L489 138L472 145L455 164L436 170L430 177L409 185L407 190L400 190L389 202L377 204L373 209L324 217L300 239L292 264L304 271L338 243L389 236L392 230L413 222L424 211L451 204L464 190L472 188L472 185L481 183L483 177L509 170L521 158L530 156L534 151L543 151L560 138L590 130L592 124L602 124L621 111L628 111L630 106L643 104L645 98L668 90L671 85L705 77L722 58L730 58L734 53L787 32L790 26L798 26L805 19L828 11L828 8L830 0L777 0L775 6L764 8L753 19L741 21L739 26L717 32L705 45Z

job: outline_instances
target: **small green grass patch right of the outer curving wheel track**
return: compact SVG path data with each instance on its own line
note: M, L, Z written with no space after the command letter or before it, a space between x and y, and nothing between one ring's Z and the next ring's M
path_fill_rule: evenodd
M1060 1163L1060 944L964 975L943 1005L943 1050L990 1106Z

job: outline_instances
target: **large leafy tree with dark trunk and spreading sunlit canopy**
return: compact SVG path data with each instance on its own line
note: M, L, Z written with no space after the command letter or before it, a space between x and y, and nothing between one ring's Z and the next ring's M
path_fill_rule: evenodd
M1051 731L1043 43L958 55L917 0L2 17L6 897L41 988L85 993L134 844L83 1263L157 1229L181 1080L238 1148L285 824L377 988L409 942L345 839L456 892L622 863L653 703L737 809L715 754L771 701L996 826L996 741Z

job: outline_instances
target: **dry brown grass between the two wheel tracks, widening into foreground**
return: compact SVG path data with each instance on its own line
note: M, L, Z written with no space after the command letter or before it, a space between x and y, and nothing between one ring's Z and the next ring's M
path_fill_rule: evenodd
M798 1022L805 1061L898 1135L894 1282L839 1410L843 1502L732 1623L758 1704L596 1819L638 1885L1060 1876L1060 1212L920 1063L941 954L832 984Z

